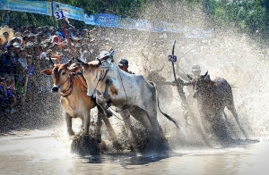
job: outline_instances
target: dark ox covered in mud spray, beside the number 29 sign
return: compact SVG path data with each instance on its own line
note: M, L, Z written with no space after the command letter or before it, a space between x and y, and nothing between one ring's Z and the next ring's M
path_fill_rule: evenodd
M227 132L222 114L227 121L227 115L224 112L225 106L233 114L239 125L239 129L247 138L246 131L239 123L238 113L236 112L230 84L226 79L216 78L210 79L208 71L204 75L200 75L192 79L195 86L199 111L204 125L204 129L210 136L212 133L219 140L230 139Z

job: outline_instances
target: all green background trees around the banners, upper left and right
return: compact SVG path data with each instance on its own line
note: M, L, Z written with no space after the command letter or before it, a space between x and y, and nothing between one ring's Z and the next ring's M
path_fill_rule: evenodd
M180 0L167 0L171 3ZM255 35L263 41L269 38L269 1L268 0L181 0L191 8L201 8L213 21L224 28L231 25ZM57 2L81 7L88 14L113 13L121 17L137 18L149 3L160 3L161 0L58 0ZM0 12L0 20L4 22L5 11ZM36 13L12 12L13 26L56 26L54 17ZM72 20L71 20L72 21ZM82 21L72 21L77 28L85 28ZM87 26L89 27L89 26Z

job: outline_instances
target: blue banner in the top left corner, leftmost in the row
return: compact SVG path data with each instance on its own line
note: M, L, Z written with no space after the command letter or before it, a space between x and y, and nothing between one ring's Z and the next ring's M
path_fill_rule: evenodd
M51 2L46 1L1 0L0 9L52 15Z

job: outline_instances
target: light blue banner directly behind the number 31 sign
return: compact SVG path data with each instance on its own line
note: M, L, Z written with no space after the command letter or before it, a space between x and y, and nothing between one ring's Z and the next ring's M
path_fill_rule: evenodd
M84 10L75 6L68 4L57 3L56 1L52 2L53 13L58 11L65 12L65 16L70 19L84 21Z

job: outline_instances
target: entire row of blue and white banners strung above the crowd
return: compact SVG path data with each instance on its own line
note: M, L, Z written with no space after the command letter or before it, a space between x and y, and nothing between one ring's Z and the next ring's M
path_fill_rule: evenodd
M178 23L165 21L147 21L142 19L133 20L121 18L115 14L98 13L88 15L82 8L56 1L36 1L36 0L0 0L0 9L18 12L34 12L39 14L54 15L56 20L68 18L84 21L86 24L119 29L137 29L149 32L173 32L183 34L185 38L205 38L213 37L213 30L192 29L184 27ZM69 21L67 21L69 22Z

